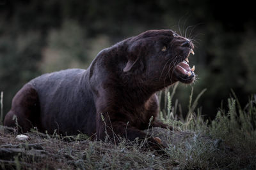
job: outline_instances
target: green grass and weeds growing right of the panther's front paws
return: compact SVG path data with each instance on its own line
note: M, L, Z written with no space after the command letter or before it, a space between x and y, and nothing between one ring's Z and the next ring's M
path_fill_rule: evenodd
M202 117L202 110L196 108L205 90L193 101L191 88L188 113L184 120L175 111L175 106L170 105L170 92L165 93L165 107L170 111L165 111L164 117L163 110L166 108L161 108L161 120L191 135L186 138L180 136L178 145L172 143L175 136L168 136L166 153L170 155L170 161L179 164L182 169L256 167L256 96L250 97L242 109L234 90L231 90L233 97L227 99L228 111L221 106L216 118L209 122Z

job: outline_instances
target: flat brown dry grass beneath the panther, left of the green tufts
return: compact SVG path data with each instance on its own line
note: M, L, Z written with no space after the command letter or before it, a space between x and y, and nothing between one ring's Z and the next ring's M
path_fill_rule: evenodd
M90 141L80 136L49 136L30 132L28 141L16 133L1 132L2 169L171 169L173 165L155 151L143 150L136 141L118 145Z

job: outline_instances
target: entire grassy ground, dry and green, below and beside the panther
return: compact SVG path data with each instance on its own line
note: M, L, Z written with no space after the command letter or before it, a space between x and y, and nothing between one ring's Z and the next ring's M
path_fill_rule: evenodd
M120 139L90 141L77 136L27 133L27 141L17 141L16 132L0 127L0 169L255 169L256 98L241 108L236 96L228 99L228 110L220 109L212 122L203 120L191 91L189 113L177 120L173 93L166 92L161 120L175 131L148 129L167 148L161 154L145 150L137 141ZM161 94L160 94L161 95ZM196 111L195 111L196 110Z

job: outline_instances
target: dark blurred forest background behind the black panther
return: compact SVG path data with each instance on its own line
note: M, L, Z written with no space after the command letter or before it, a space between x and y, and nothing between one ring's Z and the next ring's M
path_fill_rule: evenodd
M0 91L4 114L12 97L42 73L86 68L97 53L148 29L193 38L198 81L179 85L175 99L188 110L191 86L202 114L214 117L230 89L242 105L256 92L256 22L246 1L48 0L0 1Z

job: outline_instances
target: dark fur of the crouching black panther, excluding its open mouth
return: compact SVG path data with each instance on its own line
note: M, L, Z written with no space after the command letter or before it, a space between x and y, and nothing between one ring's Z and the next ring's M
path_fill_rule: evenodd
M16 115L23 132L37 127L104 139L107 129L112 137L143 139L150 117L152 126L166 127L156 121L156 92L178 81L172 70L184 60L184 41L170 30L147 31L102 50L87 70L43 74L19 90L4 125L15 126Z

